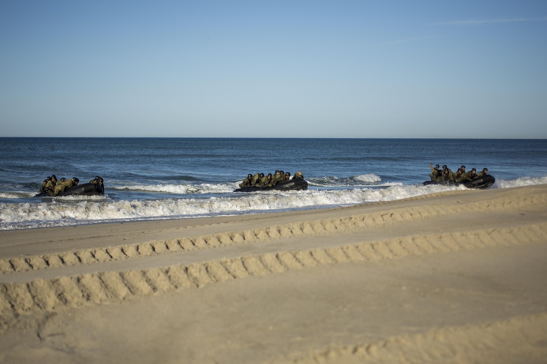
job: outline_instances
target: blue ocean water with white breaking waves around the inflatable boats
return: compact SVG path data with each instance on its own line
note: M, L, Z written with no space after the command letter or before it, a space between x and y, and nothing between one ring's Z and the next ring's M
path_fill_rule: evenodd
M490 188L547 183L545 139L0 138L0 230L256 214L392 201L429 163L487 167ZM306 191L233 192L248 173L294 174ZM100 175L104 196L37 198L48 175Z

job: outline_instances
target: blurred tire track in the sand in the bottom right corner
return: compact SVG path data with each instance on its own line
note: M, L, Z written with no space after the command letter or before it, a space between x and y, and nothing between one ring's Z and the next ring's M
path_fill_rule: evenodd
M547 357L547 314L520 316L482 325L434 328L424 333L392 337L380 342L334 347L293 360L311 363L471 363L522 362ZM511 343L508 345L508 343ZM457 355L457 356L455 356ZM480 358L480 359L479 359ZM287 362L280 359L275 362Z

